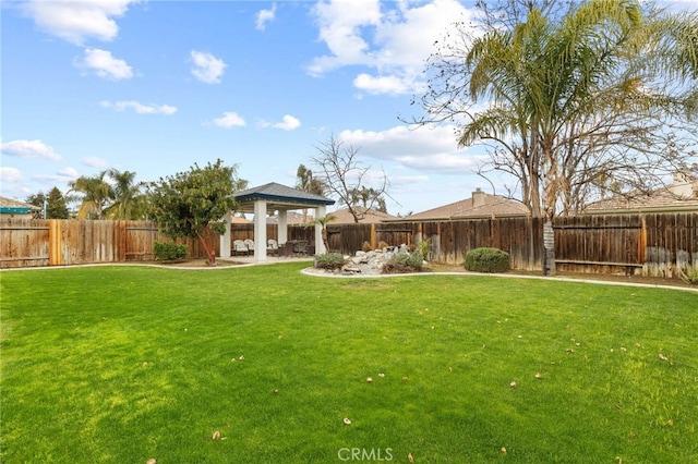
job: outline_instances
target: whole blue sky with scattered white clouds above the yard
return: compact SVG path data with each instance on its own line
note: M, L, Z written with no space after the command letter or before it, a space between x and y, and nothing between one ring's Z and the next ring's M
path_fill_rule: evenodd
M292 186L333 134L387 174L393 215L493 193L481 148L398 119L422 114L423 62L472 3L3 0L0 195L218 158L250 186Z

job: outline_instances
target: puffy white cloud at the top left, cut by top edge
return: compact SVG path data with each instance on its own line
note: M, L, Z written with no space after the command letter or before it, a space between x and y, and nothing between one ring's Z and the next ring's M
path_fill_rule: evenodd
M38 28L74 45L87 38L108 41L117 37L113 17L122 16L131 3L140 0L28 0L21 4Z

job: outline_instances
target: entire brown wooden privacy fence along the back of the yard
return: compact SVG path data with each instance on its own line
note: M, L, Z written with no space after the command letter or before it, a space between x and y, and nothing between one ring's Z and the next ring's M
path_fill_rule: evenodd
M558 218L554 223L559 271L630 273L676 278L698 266L698 212ZM278 240L276 224L267 239ZM313 241L314 228L289 225L289 240ZM233 224L233 240L254 239L253 224ZM0 267L154 260L153 244L166 241L146 221L3 220ZM430 241L429 259L461 265L468 251L491 246L509 253L512 268L542 271L542 220L538 218L329 224L330 251L353 255L365 242L376 248ZM219 254L219 240L213 243ZM205 257L186 241L191 257Z

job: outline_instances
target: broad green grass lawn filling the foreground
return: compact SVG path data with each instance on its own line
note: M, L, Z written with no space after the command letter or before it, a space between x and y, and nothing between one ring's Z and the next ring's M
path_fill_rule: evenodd
M0 273L0 461L698 462L697 293L304 266Z

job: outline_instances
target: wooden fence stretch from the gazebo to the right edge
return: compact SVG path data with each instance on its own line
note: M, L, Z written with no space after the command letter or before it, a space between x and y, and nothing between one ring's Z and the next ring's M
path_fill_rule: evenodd
M468 251L490 246L507 252L512 268L542 271L542 219L502 218L458 221L329 224L330 251L354 254L364 242L371 248L431 242L429 259L461 265ZM615 215L557 218L555 262L559 271L678 277L698 266L698 212L675 215ZM237 235L239 234L239 235ZM253 239L244 224L233 236ZM276 225L267 236L277 237ZM313 228L289 227L289 240L314 240Z

